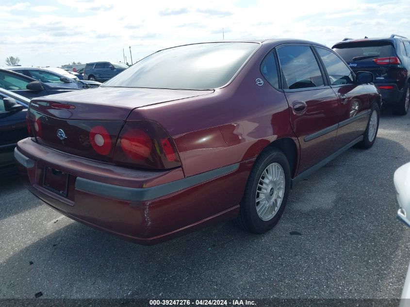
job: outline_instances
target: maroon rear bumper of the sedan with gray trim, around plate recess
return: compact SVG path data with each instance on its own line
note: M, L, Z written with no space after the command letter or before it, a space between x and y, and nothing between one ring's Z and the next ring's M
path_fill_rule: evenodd
M233 219L253 161L184 178L67 155L25 139L15 151L28 189L62 214L140 244L155 244ZM67 197L42 186L44 169L69 175Z

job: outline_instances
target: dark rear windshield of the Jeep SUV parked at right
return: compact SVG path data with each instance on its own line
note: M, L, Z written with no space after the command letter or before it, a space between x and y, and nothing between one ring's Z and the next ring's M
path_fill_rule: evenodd
M346 62L371 61L375 58L395 56L393 45L382 41L343 43L333 46Z

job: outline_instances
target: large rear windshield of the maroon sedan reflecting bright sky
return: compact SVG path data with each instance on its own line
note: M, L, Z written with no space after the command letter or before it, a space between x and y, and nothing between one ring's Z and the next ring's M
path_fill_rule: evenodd
M165 49L142 59L104 87L213 89L227 84L257 43L204 43Z

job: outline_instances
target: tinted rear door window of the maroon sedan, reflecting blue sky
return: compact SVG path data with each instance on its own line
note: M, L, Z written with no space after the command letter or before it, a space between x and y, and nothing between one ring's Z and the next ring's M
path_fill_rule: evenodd
M325 85L319 65L309 46L280 47L278 56L289 89Z

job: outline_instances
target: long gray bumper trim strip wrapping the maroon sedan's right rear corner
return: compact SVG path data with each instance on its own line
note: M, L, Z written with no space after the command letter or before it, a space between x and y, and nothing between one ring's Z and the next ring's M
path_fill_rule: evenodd
M239 163L214 169L209 172L183 178L180 180L164 183L150 188L129 188L118 185L102 183L81 177L77 177L75 187L78 190L101 196L126 201L148 200L171 194L202 182L227 175L238 169Z

